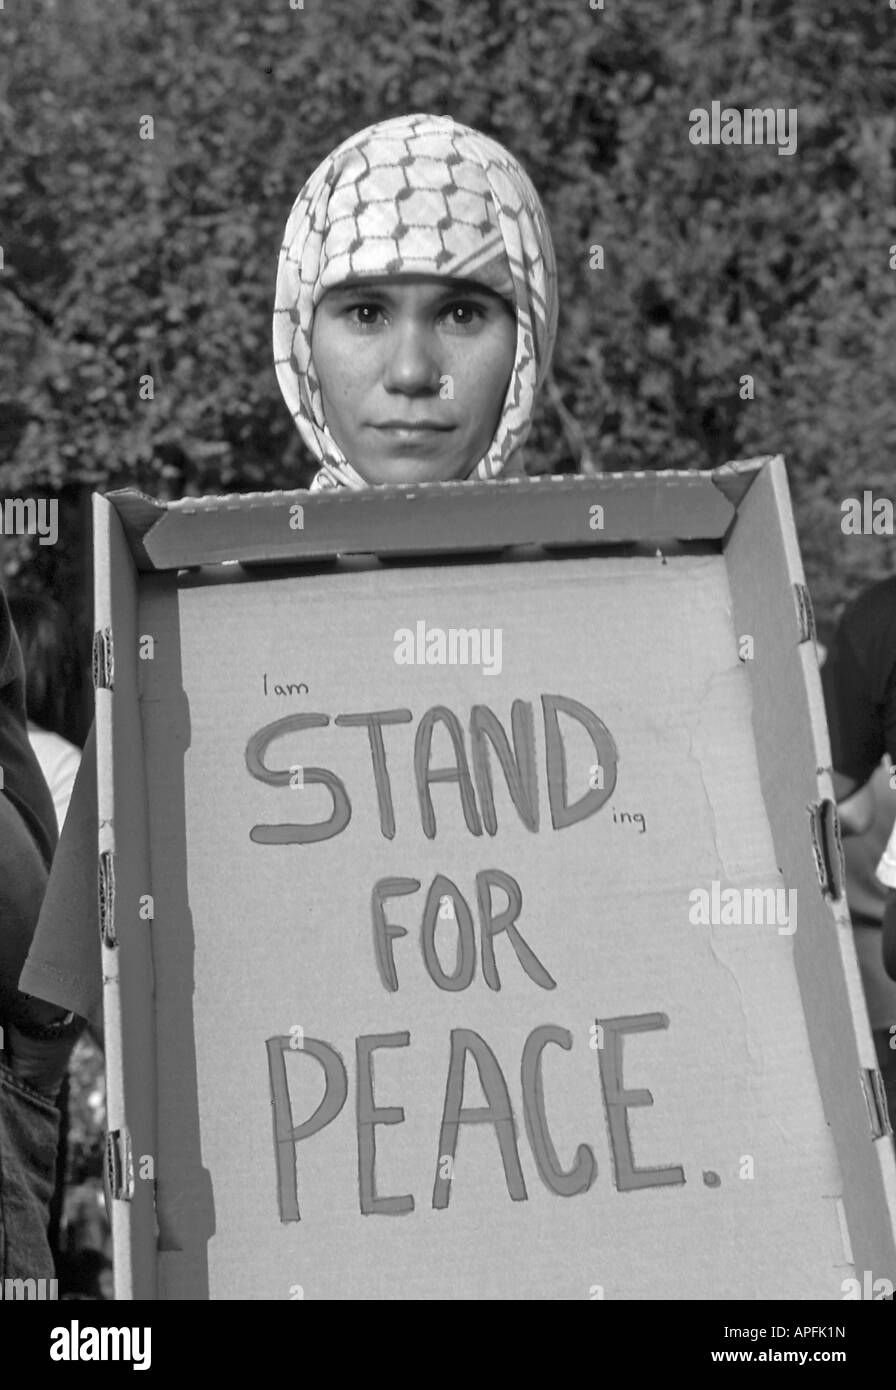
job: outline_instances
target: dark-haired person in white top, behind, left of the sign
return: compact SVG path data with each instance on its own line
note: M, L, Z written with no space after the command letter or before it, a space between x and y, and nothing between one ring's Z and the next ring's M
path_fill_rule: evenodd
M79 688L78 646L61 607L46 594L10 595L10 613L25 662L28 738L61 830L81 763L81 749L63 735L67 706Z

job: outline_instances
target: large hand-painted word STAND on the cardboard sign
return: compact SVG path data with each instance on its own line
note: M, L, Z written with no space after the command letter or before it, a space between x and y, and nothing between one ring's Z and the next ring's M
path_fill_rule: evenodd
M597 764L604 770L602 785L592 785L575 802L568 799L567 755L560 731L560 714L575 720L586 731L597 752ZM545 726L545 770L547 776L547 801L554 830L564 830L588 816L593 816L613 795L617 777L617 746L607 726L586 705L565 695L542 695L542 717ZM368 714L336 714L333 723L342 728L365 728L370 739L371 764L376 802L379 808L379 830L385 840L393 840L396 833L392 783L386 766L383 728L389 724L410 724L414 716L410 709L376 710ZM535 758L535 721L532 705L528 701L513 702L511 713L513 749L504 726L488 705L474 705L470 712L470 748L467 758L464 734L460 720L445 705L428 709L417 726L414 738L414 780L420 802L420 816L424 834L433 840L436 817L432 806L432 784L454 783L467 828L471 835L482 830L495 835L497 817L495 813L495 788L489 746L500 763L514 808L533 834L539 830L539 788ZM265 763L271 744L288 734L306 728L324 728L329 714L286 714L265 724L253 734L246 745L246 767L251 777L268 787L289 787L293 773L290 767L274 769ZM453 748L454 760L449 767L432 766L432 737L442 727ZM471 773L472 762L472 773ZM590 759L589 759L590 762ZM294 766L294 764L293 764ZM296 821L274 826L253 826L249 838L260 845L308 845L332 840L342 834L351 820L351 802L347 788L336 773L325 767L303 767L301 785L320 784L326 787L333 809L328 820L301 824ZM474 787L475 778L475 787ZM294 785L294 783L293 783Z

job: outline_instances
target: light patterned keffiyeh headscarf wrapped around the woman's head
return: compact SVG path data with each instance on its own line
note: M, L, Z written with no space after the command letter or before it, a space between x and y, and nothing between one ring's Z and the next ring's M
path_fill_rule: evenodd
M504 409L470 477L497 477L529 432L557 335L557 268L538 193L503 146L450 117L382 121L318 165L293 203L281 247L274 363L321 463L313 491L367 486L326 428L311 361L314 309L345 279L400 274L476 281L515 307Z

